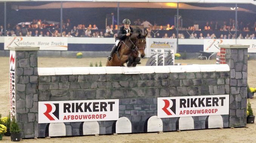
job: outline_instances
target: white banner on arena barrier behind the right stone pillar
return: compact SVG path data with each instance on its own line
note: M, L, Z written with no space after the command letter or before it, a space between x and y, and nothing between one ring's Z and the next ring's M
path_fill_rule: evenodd
M256 53L255 39L204 39L204 51L216 53L220 51L221 45L250 45L248 53Z

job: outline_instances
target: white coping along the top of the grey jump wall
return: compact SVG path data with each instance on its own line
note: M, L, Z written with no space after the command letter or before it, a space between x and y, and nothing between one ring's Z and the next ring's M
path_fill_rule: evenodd
M230 71L227 64L179 65L179 66L136 66L136 67L56 67L38 68L38 75L81 75L81 74L151 74L175 72L221 72Z

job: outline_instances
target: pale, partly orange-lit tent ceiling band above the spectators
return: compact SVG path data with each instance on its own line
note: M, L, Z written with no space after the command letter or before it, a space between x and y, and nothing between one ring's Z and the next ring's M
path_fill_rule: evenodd
M63 2L63 8L116 8L116 2ZM177 8L177 3L119 3L120 8ZM47 3L40 6L22 6L12 5L12 9L60 9L60 3ZM230 7L199 7L185 3L179 3L179 9L196 9L196 10L211 10L211 11L232 11ZM238 8L237 11L254 13L248 9Z

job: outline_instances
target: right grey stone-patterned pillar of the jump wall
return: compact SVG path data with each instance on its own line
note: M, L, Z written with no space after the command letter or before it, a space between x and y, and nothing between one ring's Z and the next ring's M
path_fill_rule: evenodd
M224 48L230 66L230 127L246 125L247 108L247 48Z

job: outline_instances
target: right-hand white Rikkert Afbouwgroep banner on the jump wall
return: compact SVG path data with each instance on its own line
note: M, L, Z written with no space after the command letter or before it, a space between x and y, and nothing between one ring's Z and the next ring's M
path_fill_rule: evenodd
M157 98L157 117L191 117L229 114L229 95Z

